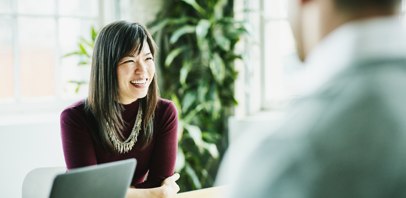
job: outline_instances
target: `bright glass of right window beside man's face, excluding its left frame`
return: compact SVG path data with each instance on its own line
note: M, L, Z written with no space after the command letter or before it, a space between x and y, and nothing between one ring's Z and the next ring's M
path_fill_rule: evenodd
M277 109L299 96L305 81L304 66L287 21L287 2L263 0L263 109Z

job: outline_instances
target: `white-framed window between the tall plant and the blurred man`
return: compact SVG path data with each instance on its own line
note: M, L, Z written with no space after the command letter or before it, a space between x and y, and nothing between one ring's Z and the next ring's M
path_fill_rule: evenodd
M281 109L302 91L305 71L287 21L287 2L235 0L235 18L253 29L253 38L237 47L246 58L245 63L236 62L237 116Z

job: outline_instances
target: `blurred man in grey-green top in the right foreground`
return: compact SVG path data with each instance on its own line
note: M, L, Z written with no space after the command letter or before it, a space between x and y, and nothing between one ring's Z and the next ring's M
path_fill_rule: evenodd
M406 197L399 3L292 0L290 22L309 69L306 94L252 153L231 197Z

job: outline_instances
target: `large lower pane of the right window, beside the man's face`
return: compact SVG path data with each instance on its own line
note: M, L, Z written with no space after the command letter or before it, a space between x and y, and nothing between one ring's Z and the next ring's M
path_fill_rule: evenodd
M265 100L298 96L304 85L304 67L298 60L288 21L269 21L265 35Z

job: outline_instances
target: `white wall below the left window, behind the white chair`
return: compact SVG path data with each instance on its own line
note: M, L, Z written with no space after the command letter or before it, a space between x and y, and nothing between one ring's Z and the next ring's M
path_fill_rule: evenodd
M0 125L0 197L21 198L24 177L32 169L65 166L58 113L31 115L47 120Z

